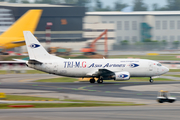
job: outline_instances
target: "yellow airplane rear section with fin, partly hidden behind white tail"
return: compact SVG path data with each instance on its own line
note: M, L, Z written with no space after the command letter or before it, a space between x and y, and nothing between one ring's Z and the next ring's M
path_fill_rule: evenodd
M23 31L34 33L41 14L41 9L28 10L7 31L0 35L0 48L6 50L25 45Z

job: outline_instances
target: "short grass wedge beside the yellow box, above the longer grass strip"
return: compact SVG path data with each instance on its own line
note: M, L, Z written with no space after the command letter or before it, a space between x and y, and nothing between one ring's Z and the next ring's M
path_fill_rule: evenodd
M45 98L45 97L32 97L32 96L20 96L20 95L6 95L6 100L53 100L59 101L58 98Z

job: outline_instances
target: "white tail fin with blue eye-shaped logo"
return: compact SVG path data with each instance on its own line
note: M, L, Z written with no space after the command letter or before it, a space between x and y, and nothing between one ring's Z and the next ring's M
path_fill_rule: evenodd
M46 61L60 59L50 55L30 31L23 31L30 60Z

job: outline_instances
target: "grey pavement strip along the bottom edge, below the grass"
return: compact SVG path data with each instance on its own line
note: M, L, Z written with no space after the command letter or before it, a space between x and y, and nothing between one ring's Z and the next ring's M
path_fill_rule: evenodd
M83 107L0 110L2 120L179 120L180 107L156 104L129 107Z

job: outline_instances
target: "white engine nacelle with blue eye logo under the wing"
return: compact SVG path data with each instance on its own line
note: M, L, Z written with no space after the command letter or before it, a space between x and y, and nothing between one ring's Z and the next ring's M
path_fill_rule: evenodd
M130 73L129 72L116 72L114 80L129 80Z

